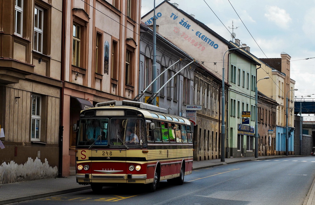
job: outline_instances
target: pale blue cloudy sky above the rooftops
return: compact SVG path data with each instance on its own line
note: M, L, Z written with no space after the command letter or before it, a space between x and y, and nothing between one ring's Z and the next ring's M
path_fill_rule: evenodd
M155 0L157 6L163 0ZM230 41L232 33L258 58L291 56L297 98L315 94L315 0L170 0ZM142 0L141 16L154 7ZM222 23L221 23L222 22ZM305 60L306 58L310 58ZM315 98L315 97L314 97Z

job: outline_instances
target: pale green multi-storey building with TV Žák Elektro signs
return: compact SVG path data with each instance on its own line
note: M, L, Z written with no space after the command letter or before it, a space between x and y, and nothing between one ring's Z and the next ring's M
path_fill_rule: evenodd
M228 56L227 156L252 157L255 155L256 65L259 64L246 54L232 52Z

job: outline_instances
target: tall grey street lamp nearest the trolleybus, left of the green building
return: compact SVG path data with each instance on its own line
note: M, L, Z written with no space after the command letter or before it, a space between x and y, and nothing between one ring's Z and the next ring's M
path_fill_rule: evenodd
M228 49L226 52L230 51L230 50L235 50L235 49L240 49L240 48L246 48L246 46L240 46L238 48L231 48ZM224 97L224 56L226 54L226 52L223 54L223 68L222 68L222 99L221 99L221 103L222 103L222 114L221 114L221 162L225 162L225 146L224 146L224 142L225 142L225 123L224 123L224 117L225 117L225 97Z

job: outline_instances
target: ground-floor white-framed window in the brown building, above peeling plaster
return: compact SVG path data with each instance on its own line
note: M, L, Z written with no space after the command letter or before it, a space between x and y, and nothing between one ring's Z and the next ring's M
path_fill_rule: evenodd
M31 140L40 141L41 96L32 95Z

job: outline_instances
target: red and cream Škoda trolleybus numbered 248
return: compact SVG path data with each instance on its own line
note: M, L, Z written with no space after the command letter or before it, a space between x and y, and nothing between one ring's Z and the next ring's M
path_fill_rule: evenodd
M81 111L77 131L76 179L103 186L159 181L183 184L192 173L192 128L184 117L142 102L122 100L96 104Z

